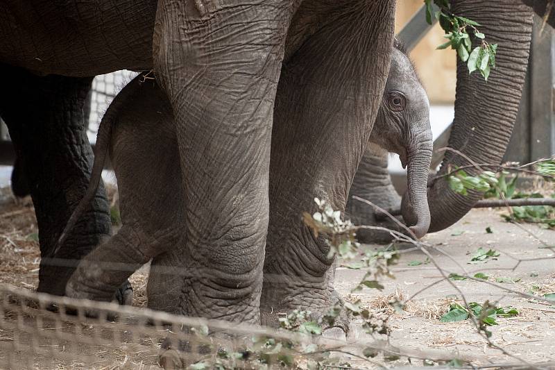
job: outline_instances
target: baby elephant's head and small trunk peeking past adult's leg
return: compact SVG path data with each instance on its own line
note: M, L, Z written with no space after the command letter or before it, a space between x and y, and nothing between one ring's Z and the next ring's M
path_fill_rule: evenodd
M429 101L406 52L395 44L391 67L370 142L398 153L408 167L408 192L416 219L411 231L427 233L430 223L426 185L432 160Z

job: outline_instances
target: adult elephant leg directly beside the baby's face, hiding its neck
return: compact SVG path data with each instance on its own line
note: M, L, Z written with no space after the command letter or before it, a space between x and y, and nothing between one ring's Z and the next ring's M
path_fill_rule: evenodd
M296 308L318 317L337 299L330 248L301 215L316 210L315 197L345 208L384 91L394 7L394 1L334 2L325 26L282 69L260 303L265 323Z

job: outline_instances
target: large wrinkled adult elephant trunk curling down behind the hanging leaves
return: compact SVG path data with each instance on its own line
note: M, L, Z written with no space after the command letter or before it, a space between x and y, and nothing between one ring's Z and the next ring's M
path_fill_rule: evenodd
M475 163L499 164L515 123L532 33L532 12L519 0L452 0L452 12L475 20L490 44L499 44L495 69L486 83L478 72L468 74L466 63L457 64L455 118L449 147L438 175L456 166ZM473 47L477 44L473 45ZM459 153L458 153L458 152ZM468 169L477 174L478 169ZM461 219L483 194L468 195L450 190L445 177L429 183L428 201L432 223L429 231L443 230ZM408 202L403 214L409 224Z

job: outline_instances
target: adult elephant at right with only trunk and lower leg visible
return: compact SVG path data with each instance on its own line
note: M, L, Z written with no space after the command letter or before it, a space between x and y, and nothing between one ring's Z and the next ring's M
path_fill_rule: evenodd
M492 70L488 82L475 72L468 74L466 63L457 63L455 117L448 146L438 175L447 173L455 166L476 163L500 163L509 144L513 124L518 113L522 86L527 70L531 42L532 9L519 5L518 1L451 1L452 11L475 20L481 26L488 42L499 44L497 67ZM524 1L539 15L549 11L549 1ZM555 10L555 8L554 8ZM555 24L554 11L545 17ZM369 199L384 208L395 207L400 197L391 185L387 172L387 155L367 151L359 165L351 195ZM468 169L476 174L476 169ZM428 184L428 202L432 223L429 231L443 230L461 219L472 208L482 194L469 191L463 196L453 192L445 177ZM375 224L373 210L368 205L349 200L348 212L360 224ZM408 224L413 222L411 212L404 202L403 217ZM376 237L376 233L362 235L365 241Z

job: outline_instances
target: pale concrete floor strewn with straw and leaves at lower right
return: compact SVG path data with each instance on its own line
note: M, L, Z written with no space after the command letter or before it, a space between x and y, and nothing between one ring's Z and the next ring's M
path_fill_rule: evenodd
M488 281L515 292L532 292L543 296L555 292L555 250L542 248L535 237L513 224L502 220L493 210L472 210L457 224L439 233L427 235L423 241L431 246L429 253L446 274L468 274L482 272ZM493 233L486 233L486 227ZM545 230L531 224L522 225L542 239L549 246L555 246L555 231ZM495 249L500 255L497 260L469 264L479 247ZM366 246L377 249L382 246ZM402 246L407 249L410 245ZM445 254L444 254L445 253ZM507 292L488 283L472 280L443 281L432 262L426 262L421 251L402 253L402 257L392 271L395 280L384 279L384 291L364 289L351 293L355 282L364 276L364 270L348 269L340 266L336 273L336 289L349 301L360 299L362 305L371 312L380 312L384 297L400 294L404 299L425 287L407 303L403 314L393 314L389 320L392 329L391 343L404 350L449 351L454 357L474 359L473 364L492 362L515 362L501 351L487 346L484 338L476 333L470 321L441 323L438 317L445 313L452 296L461 301L463 294L468 302L490 301L496 306L512 305L520 314L517 317L498 319L498 326L489 328L493 332L494 344L506 348L510 353L531 362L555 361L555 302L553 305L523 298L515 292ZM541 258L540 260L537 260ZM523 260L518 263L518 260ZM409 262L424 262L409 266ZM345 263L345 262L344 262ZM512 278L515 283L497 283L496 278ZM456 288L455 288L456 287ZM382 312L383 314L384 312ZM355 321L356 322L356 321ZM352 340L372 337L364 333L356 323L351 324ZM397 365L408 364L400 360ZM422 364L422 362L413 362ZM554 367L548 367L555 369Z

